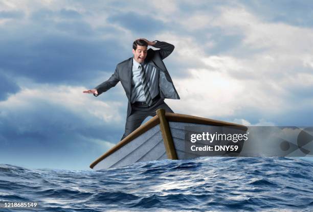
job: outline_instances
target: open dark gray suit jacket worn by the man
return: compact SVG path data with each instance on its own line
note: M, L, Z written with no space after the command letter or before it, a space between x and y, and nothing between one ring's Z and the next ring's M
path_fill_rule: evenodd
M160 70L159 73L159 91L162 99L180 99L178 93L174 87L173 81L168 74L163 59L169 56L173 50L174 45L158 41L153 45L160 50L149 49L145 62L154 65ZM105 82L101 83L95 89L98 91L99 96L101 93L107 91L111 87L114 87L119 81L125 90L126 97L128 99L127 117L131 113L130 106L130 94L131 94L131 78L132 78L132 57L117 64L114 74Z

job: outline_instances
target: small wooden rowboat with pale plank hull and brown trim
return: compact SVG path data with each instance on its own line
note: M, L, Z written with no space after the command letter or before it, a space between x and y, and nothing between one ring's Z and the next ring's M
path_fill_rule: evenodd
M90 168L102 170L127 166L135 162L163 159L192 159L204 156L186 151L186 127L211 127L212 132L235 127L245 132L243 125L216 121L177 113L157 110L157 115L133 131L116 146L96 159ZM190 142L188 143L190 145Z

